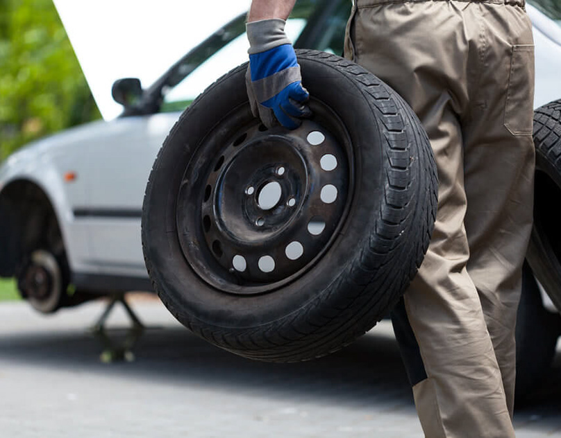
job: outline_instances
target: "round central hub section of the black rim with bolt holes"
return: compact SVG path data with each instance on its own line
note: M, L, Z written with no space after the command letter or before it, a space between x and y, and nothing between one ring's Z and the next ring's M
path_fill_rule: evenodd
M308 191L305 159L281 136L256 139L229 158L215 183L214 219L240 241L266 243L299 212L296 199Z

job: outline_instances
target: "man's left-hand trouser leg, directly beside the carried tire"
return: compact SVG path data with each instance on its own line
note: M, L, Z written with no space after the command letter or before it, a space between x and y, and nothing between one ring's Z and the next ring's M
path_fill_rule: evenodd
M467 35L465 2L358 0L353 58L408 100L428 132L439 170L439 210L405 308L427 378L414 387L429 437L510 437L512 423L478 290L467 272L462 114L480 69L480 29Z

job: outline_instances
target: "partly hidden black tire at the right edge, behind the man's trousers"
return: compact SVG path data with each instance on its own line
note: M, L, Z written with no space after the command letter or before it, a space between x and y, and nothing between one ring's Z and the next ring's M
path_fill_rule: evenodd
M534 224L526 259L561 311L561 100L534 112L536 148Z

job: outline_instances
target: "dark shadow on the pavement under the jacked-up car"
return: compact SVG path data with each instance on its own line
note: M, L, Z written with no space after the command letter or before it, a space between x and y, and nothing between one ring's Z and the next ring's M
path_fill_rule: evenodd
M123 340L124 330L109 332ZM328 399L346 405L409 403L412 395L395 340L376 328L331 356L310 362L274 364L246 360L222 351L182 327L146 329L135 345L134 362L104 364L102 345L91 333L32 331L0 335L0 360L41 369L81 369L126 379L173 385L204 385L221 390L267 392L274 396ZM515 420L531 430L551 428L561 412L561 354L542 385L517 406Z

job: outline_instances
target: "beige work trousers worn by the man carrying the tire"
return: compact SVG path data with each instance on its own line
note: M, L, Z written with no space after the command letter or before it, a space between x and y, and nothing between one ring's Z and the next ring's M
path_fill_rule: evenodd
M524 0L356 0L345 55L426 128L437 220L405 310L426 437L512 437L514 326L533 216L534 56Z

